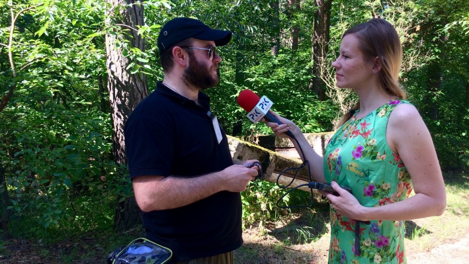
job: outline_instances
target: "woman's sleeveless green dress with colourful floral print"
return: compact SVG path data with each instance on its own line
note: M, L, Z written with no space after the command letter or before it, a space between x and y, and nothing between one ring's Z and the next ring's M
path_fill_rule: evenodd
M325 148L326 182L336 181L352 188L363 206L397 202L412 192L404 163L386 142L389 115L402 103L408 104L401 99L390 101L362 119L357 119L355 113ZM329 263L406 263L404 221L372 220L365 224L342 217L332 206L330 214Z

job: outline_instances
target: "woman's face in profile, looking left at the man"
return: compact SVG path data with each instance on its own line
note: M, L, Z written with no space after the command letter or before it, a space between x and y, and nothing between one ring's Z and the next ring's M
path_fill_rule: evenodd
M340 55L332 66L336 69L336 81L339 88L367 88L371 79L373 63L363 60L359 49L360 42L355 34L342 38Z

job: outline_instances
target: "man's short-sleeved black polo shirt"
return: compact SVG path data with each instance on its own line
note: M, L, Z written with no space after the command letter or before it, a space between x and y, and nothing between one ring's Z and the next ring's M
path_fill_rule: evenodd
M200 176L233 165L228 140L218 144L209 97L199 103L158 82L133 110L125 125L130 178L136 176ZM176 261L209 257L242 244L239 193L219 192L176 209L143 213L147 237L171 248Z

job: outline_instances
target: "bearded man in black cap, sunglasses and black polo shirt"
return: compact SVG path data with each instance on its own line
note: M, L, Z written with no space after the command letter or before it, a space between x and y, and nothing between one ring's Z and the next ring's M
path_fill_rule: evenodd
M176 18L158 36L162 82L125 125L128 167L147 238L177 264L230 264L241 246L239 192L257 167L234 164L228 140L201 92L219 82L216 46L230 31Z

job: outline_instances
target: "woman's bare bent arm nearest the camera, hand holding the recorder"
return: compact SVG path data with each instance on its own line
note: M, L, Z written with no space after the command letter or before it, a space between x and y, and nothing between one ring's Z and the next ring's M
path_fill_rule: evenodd
M364 207L352 195L327 195L343 216L356 220L412 220L440 216L446 208L446 189L430 133L412 105L397 106L389 117L387 142L399 154L412 179L415 195L391 204ZM333 184L333 188L336 184ZM336 189L334 188L334 189Z

